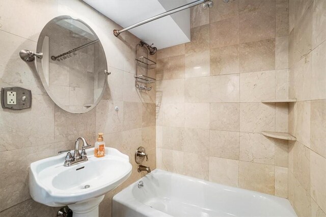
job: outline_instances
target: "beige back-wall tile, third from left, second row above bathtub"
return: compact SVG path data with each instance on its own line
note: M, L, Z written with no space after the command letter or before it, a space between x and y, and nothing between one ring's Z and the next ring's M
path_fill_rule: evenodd
M209 156L239 159L239 132L210 130Z

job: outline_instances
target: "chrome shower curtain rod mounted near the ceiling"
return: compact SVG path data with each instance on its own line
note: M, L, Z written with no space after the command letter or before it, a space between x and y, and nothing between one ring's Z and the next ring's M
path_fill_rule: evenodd
M204 3L204 5L203 5L204 9L213 7L213 2L211 0L197 0L195 2L192 2L192 3L186 4L186 5L180 6L178 8L172 9L170 11L167 11L167 12L158 14L156 16L153 16L151 18L145 19L145 20L143 20L141 22L135 23L135 24L130 25L130 26L128 26L128 27L126 27L126 28L124 28L122 30L114 30L113 31L113 34L118 37L120 35L120 33L123 33L123 32L125 32L127 30L131 30L131 29L133 29L133 28L135 28L137 26L143 25L145 23L151 22L151 21L156 20L156 19L159 19L161 17L168 16L170 14L177 13L179 11L183 11L185 9L194 7L194 6L199 5L199 4L202 4L202 3Z

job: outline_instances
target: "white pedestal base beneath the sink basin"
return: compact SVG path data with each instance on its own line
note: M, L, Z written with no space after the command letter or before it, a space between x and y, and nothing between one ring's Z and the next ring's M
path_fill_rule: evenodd
M104 195L82 203L70 204L68 207L73 212L72 217L96 217L98 216L98 206L103 199Z

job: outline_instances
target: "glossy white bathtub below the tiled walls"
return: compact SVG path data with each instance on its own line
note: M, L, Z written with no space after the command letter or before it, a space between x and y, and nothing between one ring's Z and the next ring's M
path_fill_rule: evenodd
M114 217L296 216L286 199L158 169L115 195L112 207Z

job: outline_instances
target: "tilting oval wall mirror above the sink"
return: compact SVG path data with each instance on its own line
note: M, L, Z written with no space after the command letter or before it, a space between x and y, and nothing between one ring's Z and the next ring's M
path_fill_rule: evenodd
M80 19L59 16L43 28L37 42L37 69L55 102L70 113L86 113L101 100L107 83L105 53L95 32Z

